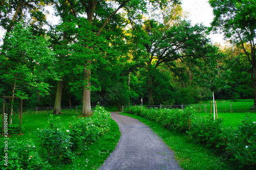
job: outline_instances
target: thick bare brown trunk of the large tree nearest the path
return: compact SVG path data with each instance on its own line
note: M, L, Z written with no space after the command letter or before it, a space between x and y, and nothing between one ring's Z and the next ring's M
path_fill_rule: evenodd
M93 114L91 109L91 64L92 60L87 61L87 65L84 68L84 82L87 84L83 87L83 98L82 98L82 115L91 116Z

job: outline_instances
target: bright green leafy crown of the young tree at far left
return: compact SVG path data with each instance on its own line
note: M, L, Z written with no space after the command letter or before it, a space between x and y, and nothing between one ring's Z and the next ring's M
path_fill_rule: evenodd
M31 27L16 25L1 50L0 79L12 87L11 95L28 98L25 88L49 94L49 79L57 79L52 67L56 59L46 37L33 35Z

